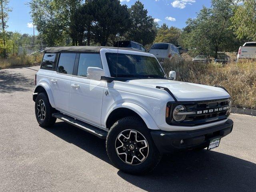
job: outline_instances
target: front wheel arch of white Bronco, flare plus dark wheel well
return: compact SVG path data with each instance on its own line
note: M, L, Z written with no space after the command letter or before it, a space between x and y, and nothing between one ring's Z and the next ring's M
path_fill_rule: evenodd
M108 113L106 116L106 120L104 122L107 129L110 129L110 127L119 119L124 118L126 116L137 116L140 118L149 129L152 130L159 130L156 122L152 118L150 114L144 108L134 104L134 103L122 103L118 104L112 110Z

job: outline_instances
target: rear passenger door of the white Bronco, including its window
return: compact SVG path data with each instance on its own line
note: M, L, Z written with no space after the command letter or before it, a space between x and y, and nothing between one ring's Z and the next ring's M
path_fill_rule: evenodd
M70 82L76 53L60 53L56 72L51 80L54 103L58 110L69 112Z

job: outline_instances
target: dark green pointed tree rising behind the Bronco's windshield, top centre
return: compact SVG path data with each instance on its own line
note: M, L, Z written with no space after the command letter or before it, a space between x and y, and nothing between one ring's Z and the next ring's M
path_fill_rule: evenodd
M129 9L132 24L128 32L128 38L143 45L151 44L156 37L156 24L152 16L148 16L148 10L140 1L136 1Z

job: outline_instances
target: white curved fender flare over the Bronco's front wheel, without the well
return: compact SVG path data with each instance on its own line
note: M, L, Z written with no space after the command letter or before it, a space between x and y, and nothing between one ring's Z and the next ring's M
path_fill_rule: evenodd
M151 130L160 130L158 128L156 122L152 118L152 116L144 108L142 108L141 106L138 106L137 104L130 103L130 102L119 103L116 106L112 107L111 110L106 115L106 118L104 120L105 127L106 127L106 123L107 123L107 120L108 120L108 117L110 116L110 114L118 108L128 108L130 110L133 110L134 112L136 112L142 118L142 120L145 122L146 126L149 129L151 129Z

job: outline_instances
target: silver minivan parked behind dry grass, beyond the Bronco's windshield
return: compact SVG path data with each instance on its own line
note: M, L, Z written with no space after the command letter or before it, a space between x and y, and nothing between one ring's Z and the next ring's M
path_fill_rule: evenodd
M166 58L173 58L174 56L181 58L178 48L170 43L155 43L150 48L149 53L156 56L159 61L163 61Z

